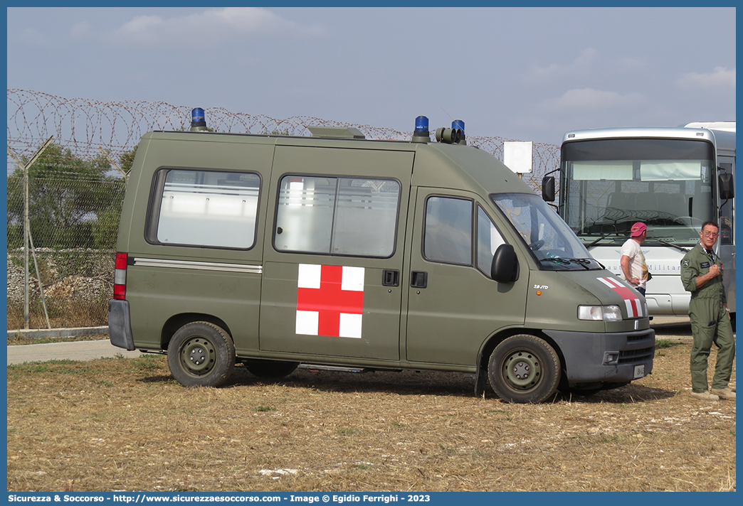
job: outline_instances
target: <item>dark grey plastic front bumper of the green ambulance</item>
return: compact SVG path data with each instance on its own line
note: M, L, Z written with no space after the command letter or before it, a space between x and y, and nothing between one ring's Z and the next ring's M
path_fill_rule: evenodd
M542 331L565 360L568 384L629 383L652 372L655 330L635 332Z

